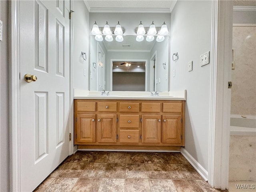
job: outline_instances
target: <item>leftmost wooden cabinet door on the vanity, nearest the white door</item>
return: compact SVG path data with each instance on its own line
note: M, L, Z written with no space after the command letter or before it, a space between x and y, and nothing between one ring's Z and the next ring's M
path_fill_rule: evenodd
M77 142L96 142L96 115L77 115Z

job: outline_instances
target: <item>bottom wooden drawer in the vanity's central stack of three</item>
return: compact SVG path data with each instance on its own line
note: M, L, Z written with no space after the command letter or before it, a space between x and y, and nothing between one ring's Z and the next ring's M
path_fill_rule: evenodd
M120 130L120 143L138 143L139 130Z

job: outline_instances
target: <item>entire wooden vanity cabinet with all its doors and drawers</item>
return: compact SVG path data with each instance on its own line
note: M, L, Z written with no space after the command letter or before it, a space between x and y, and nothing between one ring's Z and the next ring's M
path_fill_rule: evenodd
M182 100L74 100L74 144L86 149L179 150Z

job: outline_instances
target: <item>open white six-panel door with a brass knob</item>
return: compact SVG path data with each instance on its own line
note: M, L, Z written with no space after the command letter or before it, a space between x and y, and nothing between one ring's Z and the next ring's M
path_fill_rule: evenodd
M33 191L69 155L69 11L69 0L20 1L21 191Z

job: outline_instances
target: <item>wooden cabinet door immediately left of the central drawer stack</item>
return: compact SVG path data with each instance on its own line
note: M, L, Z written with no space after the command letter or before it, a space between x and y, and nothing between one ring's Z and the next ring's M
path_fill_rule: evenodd
M116 142L116 115L98 115L97 141L99 143Z

